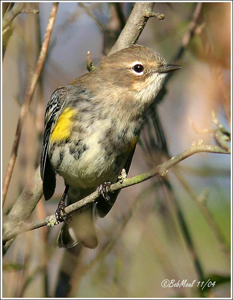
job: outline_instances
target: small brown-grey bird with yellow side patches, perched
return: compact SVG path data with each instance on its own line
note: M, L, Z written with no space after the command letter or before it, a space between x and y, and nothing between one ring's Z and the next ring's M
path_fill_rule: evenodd
M105 58L99 66L57 88L45 111L40 173L46 200L52 197L58 173L64 178L67 205L116 182L128 173L148 106L160 91L167 64L158 53L132 45ZM118 192L99 197L71 214L58 236L59 247L77 243L95 248L95 211L104 217Z

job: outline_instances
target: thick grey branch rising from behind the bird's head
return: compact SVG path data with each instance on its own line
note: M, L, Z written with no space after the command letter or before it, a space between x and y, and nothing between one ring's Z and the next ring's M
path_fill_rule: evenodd
M156 16L157 19L164 19L163 14L153 13L153 2L136 2L133 10L125 24L121 34L119 35L115 45L110 50L112 54L118 50L124 49L136 43L148 19Z

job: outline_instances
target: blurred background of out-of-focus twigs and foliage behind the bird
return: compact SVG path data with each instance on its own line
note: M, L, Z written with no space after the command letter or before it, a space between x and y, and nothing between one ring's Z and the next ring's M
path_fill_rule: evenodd
M33 5L39 14L20 14L14 19L2 64L3 177L52 3ZM150 18L137 44L174 62L197 5L156 3L154 12L164 13L165 19ZM88 51L93 64L98 64L132 7L132 2L59 4L48 56L23 127L3 220L39 165L43 116L50 95L87 71ZM211 116L214 110L230 131L230 24L230 2L203 3L194 35L176 61L183 69L174 73L165 97L157 104L171 156L200 139L204 144L215 143L211 134L196 133L189 118L198 130L211 130L216 128ZM146 149L146 139L147 128L136 147L129 177L164 161L156 147ZM230 297L230 162L230 155L199 153L171 169L165 180L152 178L121 190L109 214L97 219L98 247L80 253L69 296ZM53 214L63 190L63 179L57 176L53 198L45 202L42 197L29 220ZM56 245L60 228L61 224L47 226L15 239L3 258L3 297L54 296L64 252ZM196 283L163 288L165 279ZM216 285L200 291L198 281L208 279Z

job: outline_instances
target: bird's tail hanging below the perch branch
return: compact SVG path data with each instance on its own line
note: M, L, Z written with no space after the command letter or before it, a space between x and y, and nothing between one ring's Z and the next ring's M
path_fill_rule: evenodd
M69 188L67 196L67 205L74 203L93 190L78 190L79 196L73 196L77 190ZM98 239L95 231L95 204L88 204L71 214L71 222L64 223L58 235L58 247L71 248L77 244L84 247L95 248L98 245Z

